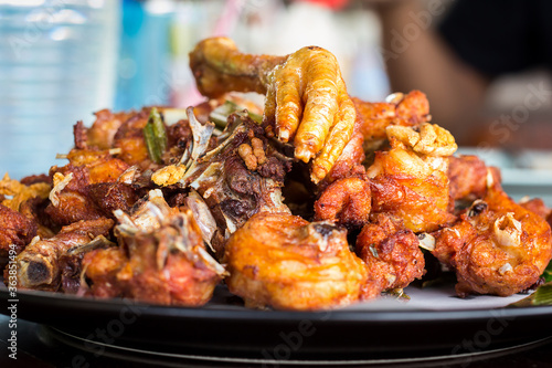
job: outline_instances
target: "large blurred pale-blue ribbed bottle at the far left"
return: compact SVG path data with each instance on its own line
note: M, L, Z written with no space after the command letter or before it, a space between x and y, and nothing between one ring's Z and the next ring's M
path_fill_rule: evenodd
M117 0L0 0L0 171L47 172L113 107Z

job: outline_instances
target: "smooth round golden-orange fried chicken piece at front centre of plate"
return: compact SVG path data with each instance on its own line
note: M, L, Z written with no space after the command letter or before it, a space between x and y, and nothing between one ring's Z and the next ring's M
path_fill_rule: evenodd
M328 309L358 301L365 265L347 232L287 213L258 213L226 245L229 290L246 306Z

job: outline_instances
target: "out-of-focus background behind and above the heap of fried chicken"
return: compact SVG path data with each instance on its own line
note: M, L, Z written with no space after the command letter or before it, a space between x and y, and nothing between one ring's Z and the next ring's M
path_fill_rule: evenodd
M200 102L188 53L203 38L229 35L251 53L326 48L338 57L350 95L365 101L421 90L433 122L452 130L463 153L508 169L509 182L534 185L523 175L532 169L543 188L551 186L546 64L500 73L470 67L469 38L461 36L478 30L466 31L457 14L458 4L475 2L496 1L0 0L0 170L14 178L45 172L72 147L76 120L92 124L95 111ZM537 1L507 1L516 2ZM475 6L482 17L485 7ZM501 17L499 24L516 28ZM479 22L470 19L468 25ZM511 45L506 56L489 36L491 46L478 53L484 65L492 52L503 60L524 52L513 45L526 40L510 33L500 35Z

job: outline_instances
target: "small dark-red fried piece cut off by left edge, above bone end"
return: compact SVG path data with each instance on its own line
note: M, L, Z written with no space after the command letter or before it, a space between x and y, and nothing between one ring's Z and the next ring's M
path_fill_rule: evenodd
M10 249L13 249L17 254L21 253L36 235L36 231L38 225L34 221L0 204L0 256L8 256Z

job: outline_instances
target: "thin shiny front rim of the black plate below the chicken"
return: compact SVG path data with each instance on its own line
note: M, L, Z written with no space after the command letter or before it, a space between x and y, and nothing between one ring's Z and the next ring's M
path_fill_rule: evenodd
M9 293L4 288L0 288L0 298L4 303L10 303L13 298L9 297ZM88 296L67 295L54 292L43 291L24 291L18 292L15 298L18 305L21 303L31 303L33 305L53 304L64 305L64 309L78 307L83 309L96 311L104 314L119 313L121 307L132 306L140 309L141 314L159 316L159 317L178 317L178 318L201 318L201 319L219 319L219 320L262 320L263 323L274 322L300 322L323 320L325 323L358 323L358 322L393 322L407 323L420 320L432 320L434 323L454 319L459 320L478 320L488 318L519 318L519 317L538 317L548 316L552 318L552 306L529 306L529 307L498 307L498 308L474 308L474 309L370 309L370 311L349 311L349 309L326 309L326 311L259 311L245 307L187 307L174 305L155 305L144 302L137 302L128 298L109 298L100 299ZM59 307L59 305L56 305ZM1 314L7 315L9 311L2 308ZM322 317L321 317L322 316ZM24 317L28 317L26 315ZM43 318L41 318L43 317ZM46 316L33 318L34 320L43 320ZM23 318L28 319L28 318Z

